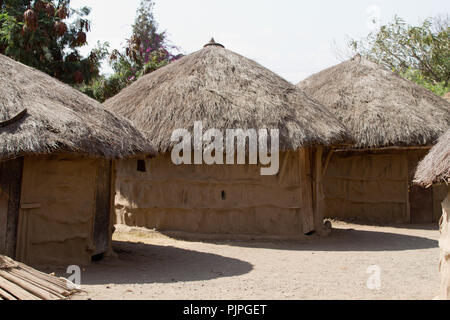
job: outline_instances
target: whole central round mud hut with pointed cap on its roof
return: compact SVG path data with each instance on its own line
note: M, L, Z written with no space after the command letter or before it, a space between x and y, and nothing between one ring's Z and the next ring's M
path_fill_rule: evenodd
M300 235L320 232L321 149L348 142L344 126L304 92L213 40L146 75L104 106L146 131L161 155L117 166L118 221L160 231ZM257 165L175 166L175 129L279 129L280 170ZM320 151L319 151L320 150ZM320 163L320 164L318 164ZM319 169L320 167L320 169ZM317 179L317 193L312 193Z

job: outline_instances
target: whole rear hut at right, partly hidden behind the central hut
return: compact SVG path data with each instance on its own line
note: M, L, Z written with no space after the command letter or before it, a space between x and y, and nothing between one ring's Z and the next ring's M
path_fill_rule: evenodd
M450 126L449 102L359 55L298 86L356 141L330 162L324 182L330 217L439 219L443 192L412 186L412 180L418 161Z

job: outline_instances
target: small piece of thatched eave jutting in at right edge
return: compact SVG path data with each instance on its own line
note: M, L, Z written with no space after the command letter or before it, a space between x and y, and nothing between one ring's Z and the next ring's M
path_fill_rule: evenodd
M439 139L438 144L419 163L415 182L425 186L437 182L450 184L450 130Z

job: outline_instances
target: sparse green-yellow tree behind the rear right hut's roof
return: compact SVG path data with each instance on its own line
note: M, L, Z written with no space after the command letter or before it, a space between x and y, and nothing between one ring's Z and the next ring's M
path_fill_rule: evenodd
M419 26L399 17L349 47L436 94L450 91L450 28L448 17L428 18Z

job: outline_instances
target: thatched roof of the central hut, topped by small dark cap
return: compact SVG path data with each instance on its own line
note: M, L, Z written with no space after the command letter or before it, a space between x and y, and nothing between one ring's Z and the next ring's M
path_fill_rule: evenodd
M175 129L280 129L280 148L348 139L325 107L258 63L214 42L146 75L107 100L106 108L147 131L166 152Z

